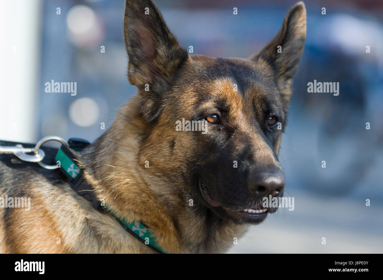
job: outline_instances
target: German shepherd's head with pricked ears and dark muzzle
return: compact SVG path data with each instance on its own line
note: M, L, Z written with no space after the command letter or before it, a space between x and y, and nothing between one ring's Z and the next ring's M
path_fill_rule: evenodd
M285 187L278 151L305 36L300 2L250 59L190 56L152 1L126 1L128 77L147 124L139 162L148 160L147 172L167 180L162 196L180 198L169 205L197 199L237 223L259 223L276 211L262 198Z

